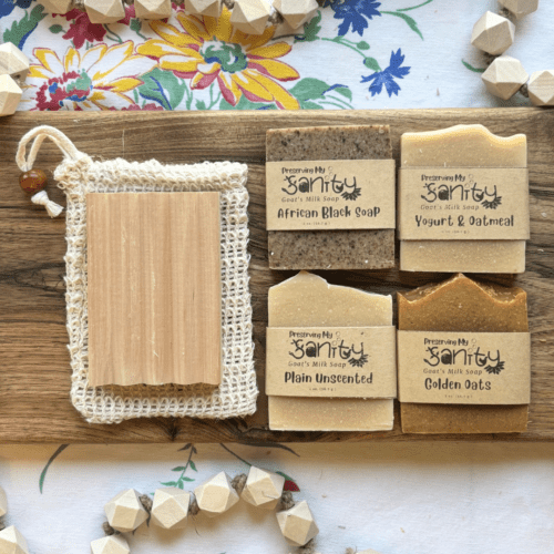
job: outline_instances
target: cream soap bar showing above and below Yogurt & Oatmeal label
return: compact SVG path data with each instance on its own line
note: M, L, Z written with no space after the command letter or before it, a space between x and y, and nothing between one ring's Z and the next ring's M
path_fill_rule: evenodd
M523 134L496 136L483 125L454 125L400 137L401 167L526 167ZM401 240L403 271L525 271L525 240Z

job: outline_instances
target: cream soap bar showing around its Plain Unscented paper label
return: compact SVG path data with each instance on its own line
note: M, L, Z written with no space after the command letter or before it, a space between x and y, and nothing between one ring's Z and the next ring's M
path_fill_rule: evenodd
M269 327L392 325L392 298L329 285L307 271L269 289ZM269 428L279 431L387 431L393 400L269 397Z

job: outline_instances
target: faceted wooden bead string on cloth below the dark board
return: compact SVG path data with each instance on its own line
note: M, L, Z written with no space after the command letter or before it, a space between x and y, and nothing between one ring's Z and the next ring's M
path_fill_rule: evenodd
M212 515L217 515L229 510L238 502L238 497L242 497L258 507L269 506L273 509L275 505L277 520L287 542L298 547L298 554L317 554L315 537L319 530L308 504L304 501L297 504L293 493L285 491L284 486L285 478L281 475L250 466L248 475L240 473L233 480L225 472L220 472L197 486L194 494L170 486L158 489L154 493L154 500L152 500L147 494L138 495L133 489L122 491L104 506L107 521L102 524L102 530L105 536L92 541L91 552L92 554L111 552L129 554L131 551L124 533L134 532L142 523L153 521L162 529L183 526L188 514L194 517L201 511L207 510ZM158 494L162 500L160 500ZM214 502L214 496L217 494L219 494L219 499L215 499ZM230 504L228 502L229 495L235 495L235 501ZM186 497L186 505L183 505L182 500L179 502L179 497L183 499L183 496ZM208 499L206 500L205 496ZM218 503L217 500L223 501L223 504ZM164 506L164 502L171 504ZM124 507L124 510L119 512L119 507ZM300 510L295 510L297 507ZM27 541L21 533L13 525L6 527L3 516L7 511L6 492L0 486L0 554L13 552L29 554ZM134 523L130 523L130 514L133 519L133 512ZM302 521L304 524L300 523ZM357 552L356 548L346 550L346 554L356 554ZM365 552L378 554L375 551Z

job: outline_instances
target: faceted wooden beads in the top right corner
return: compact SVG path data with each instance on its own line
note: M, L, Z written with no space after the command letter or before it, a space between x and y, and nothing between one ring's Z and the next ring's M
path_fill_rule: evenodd
M502 100L521 92L536 106L554 105L554 70L536 71L530 78L519 60L502 55L514 41L515 25L511 20L536 11L538 0L499 0L499 3L500 14L485 12L471 35L471 43L489 54L490 65L481 75L486 90Z

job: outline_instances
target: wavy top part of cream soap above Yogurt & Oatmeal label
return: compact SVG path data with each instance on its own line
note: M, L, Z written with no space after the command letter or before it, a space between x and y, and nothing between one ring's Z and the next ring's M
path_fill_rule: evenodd
M527 137L500 136L481 124L400 136L401 167L526 167Z

